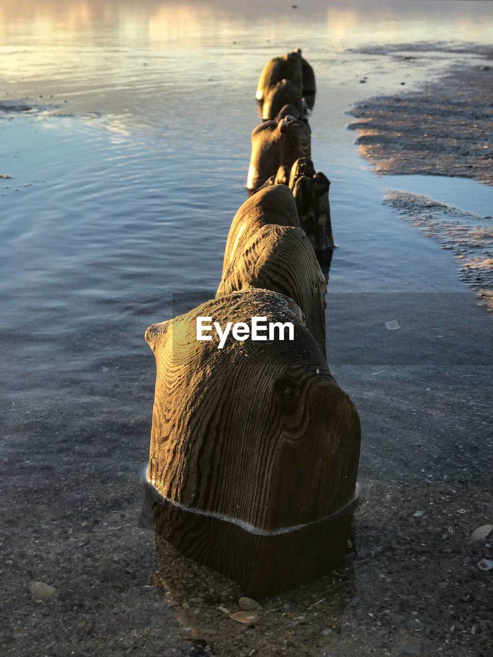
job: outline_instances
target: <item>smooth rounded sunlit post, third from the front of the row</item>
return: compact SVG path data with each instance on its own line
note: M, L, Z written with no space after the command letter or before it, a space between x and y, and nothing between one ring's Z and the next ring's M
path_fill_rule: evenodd
M227 235L222 275L225 275L231 260L245 249L253 235L268 224L300 227L294 196L285 185L260 189L241 205Z

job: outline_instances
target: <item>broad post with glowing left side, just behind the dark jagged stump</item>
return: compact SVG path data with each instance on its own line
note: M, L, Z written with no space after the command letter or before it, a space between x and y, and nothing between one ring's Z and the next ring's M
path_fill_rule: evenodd
M252 152L247 189L253 193L281 165L291 168L298 158L310 158L310 127L292 116L277 117L258 125L251 135Z

